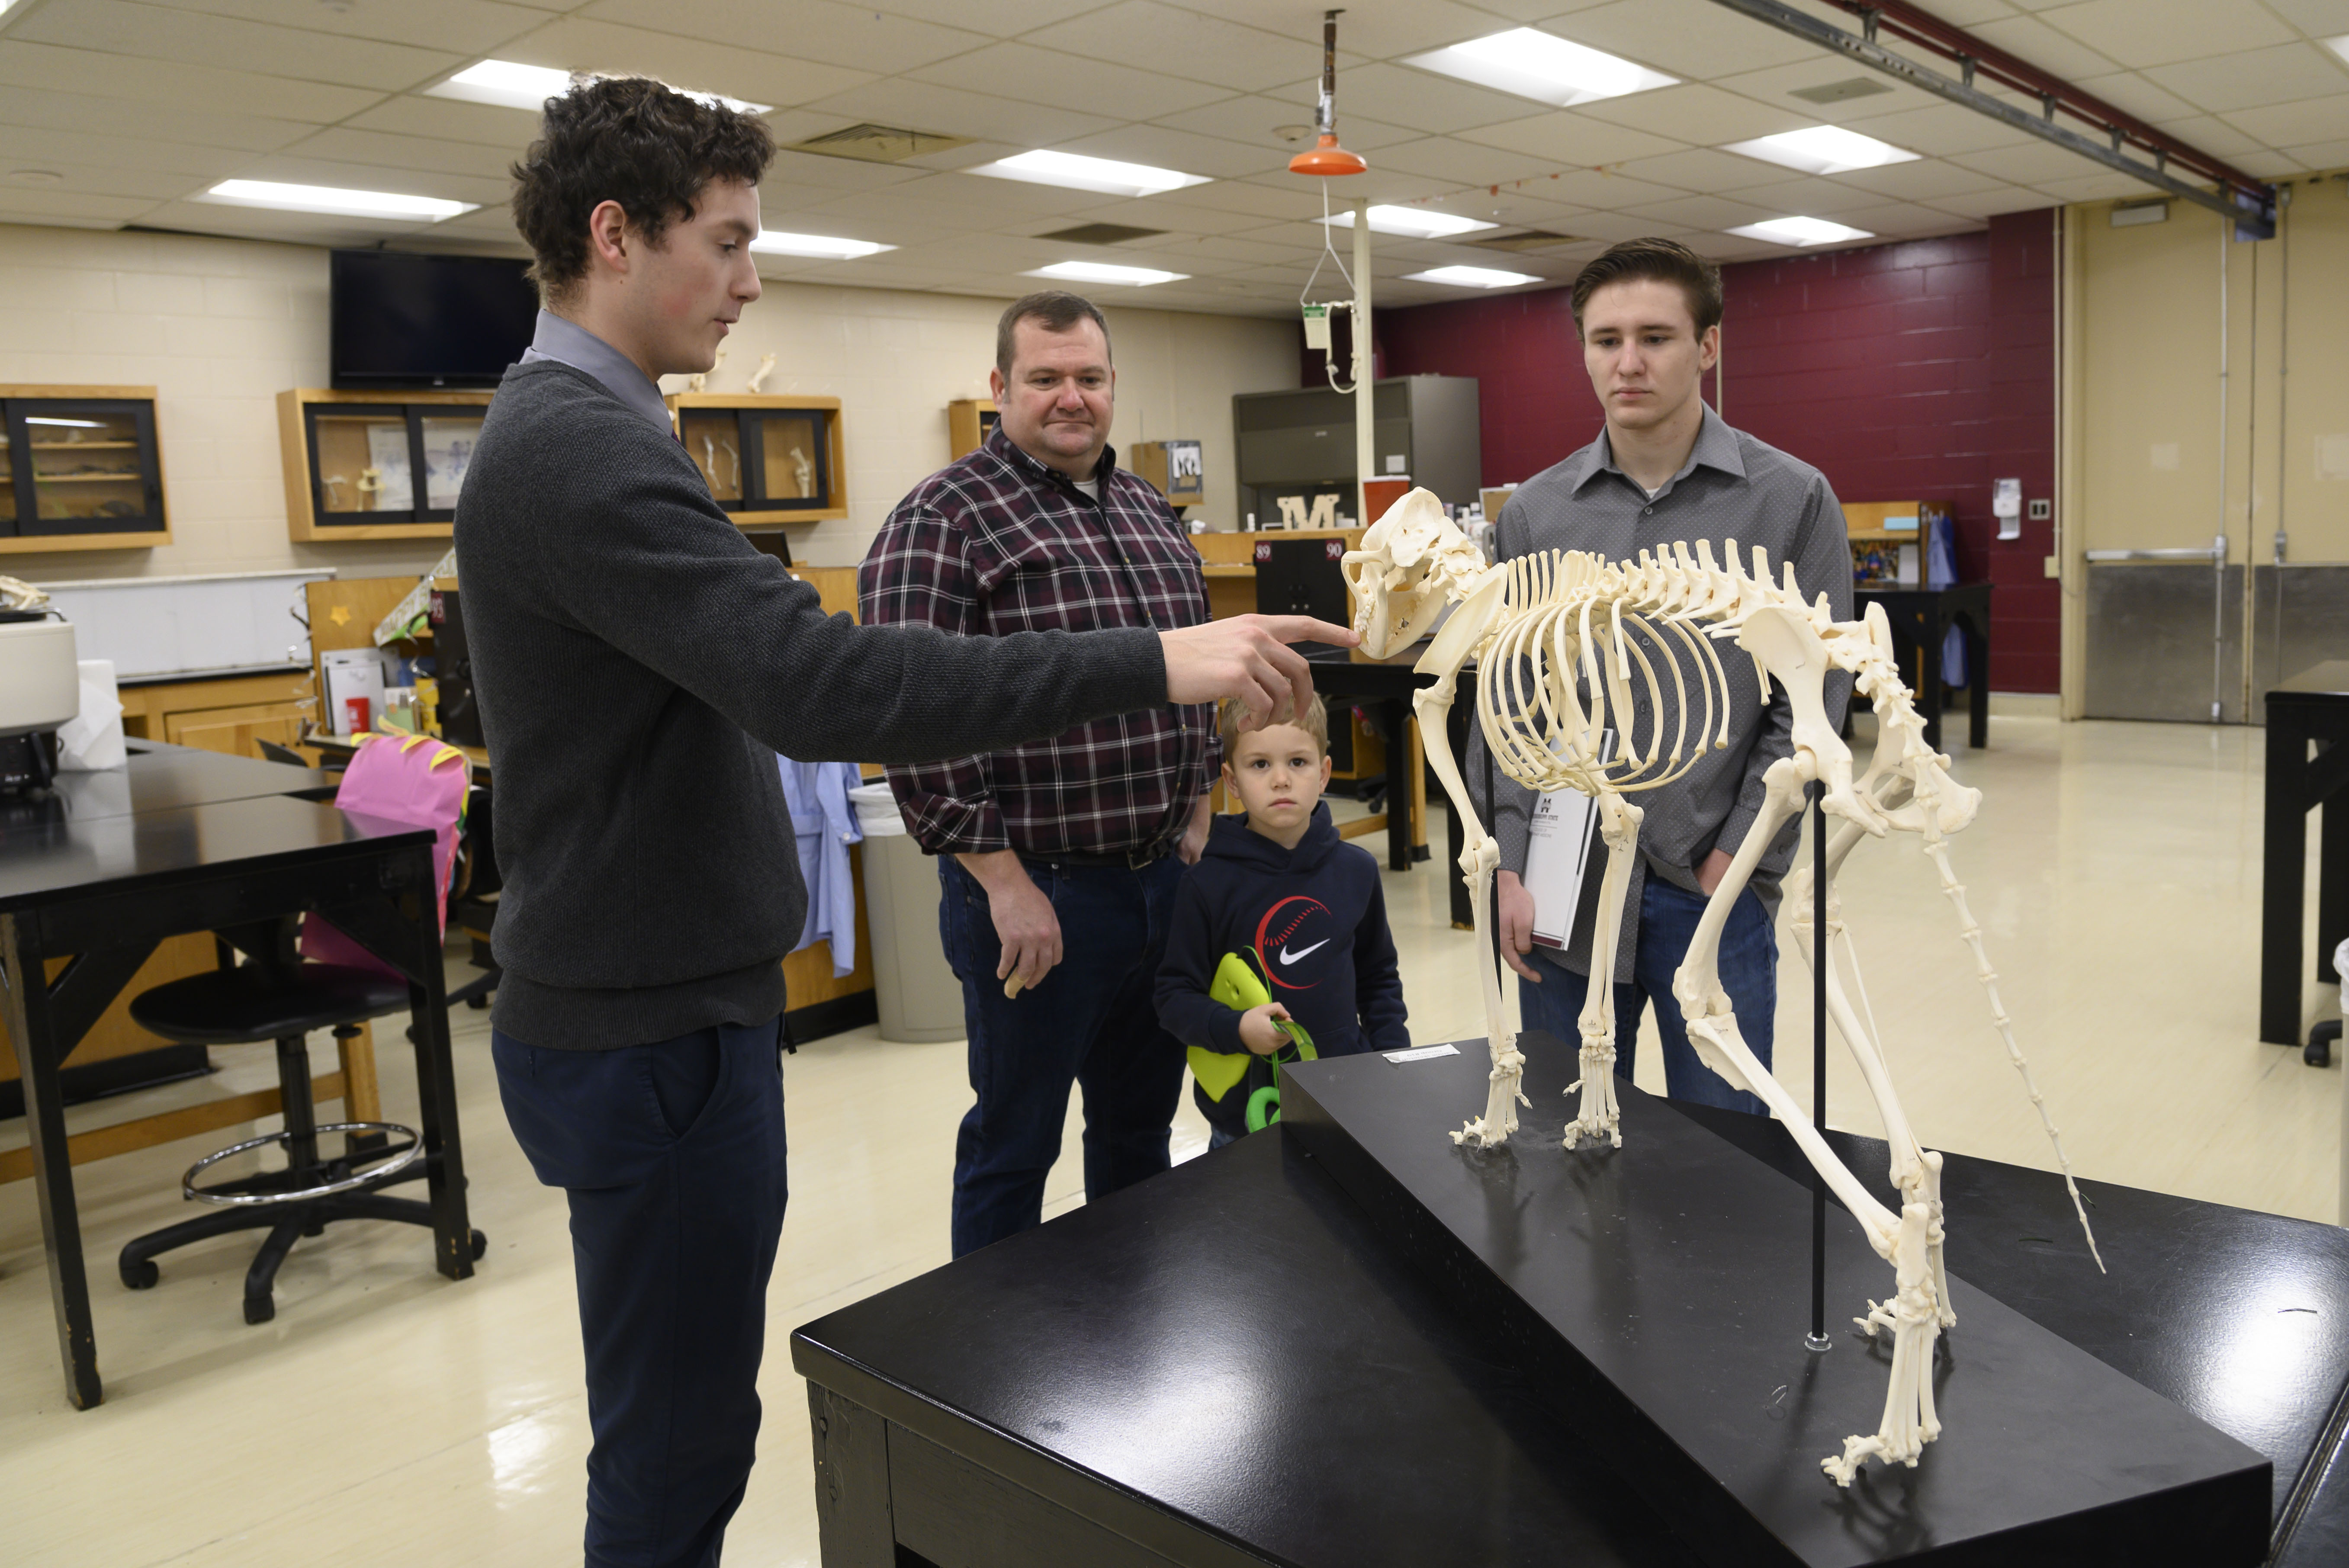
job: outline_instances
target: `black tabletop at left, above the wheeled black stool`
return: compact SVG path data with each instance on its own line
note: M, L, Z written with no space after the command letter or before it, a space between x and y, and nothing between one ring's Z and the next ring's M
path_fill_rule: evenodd
M87 819L59 798L16 803L0 810L0 911L52 904L101 883L129 890L226 866L366 854L388 838L430 840L432 831L284 796Z

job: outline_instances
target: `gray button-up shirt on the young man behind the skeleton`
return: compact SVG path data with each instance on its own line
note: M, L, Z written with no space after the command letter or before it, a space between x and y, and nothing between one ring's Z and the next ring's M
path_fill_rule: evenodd
M1642 549L1654 552L1672 540L1687 540L1691 549L1698 540L1712 540L1712 556L1719 561L1724 540L1736 540L1745 570L1752 570L1752 547L1762 545L1769 552L1771 580L1781 580L1783 563L1792 561L1802 592L1813 599L1825 592L1835 617L1851 620L1851 545L1844 535L1844 509L1837 505L1835 491L1828 488L1828 479L1809 462L1731 430L1712 408L1705 408L1705 423L1689 460L1656 495L1642 491L1616 467L1602 430L1597 441L1517 486L1517 493L1501 507L1494 538L1503 561L1543 549L1586 549L1611 561L1635 561ZM1729 746L1705 751L1687 775L1663 789L1628 796L1647 817L1640 824L1640 859L1623 899L1616 981L1633 976L1640 946L1640 894L1647 878L1658 876L1675 887L1698 892L1696 866L1712 850L1736 854L1762 812L1762 772L1795 749L1792 709L1785 692L1773 685L1769 702L1764 702L1752 660L1736 643L1715 643L1715 650L1729 676ZM1665 704L1672 702L1672 685L1663 660L1680 662L1691 695L1689 735L1694 737L1705 716L1703 699L1696 697L1696 662L1684 650L1656 641L1642 641L1642 653L1656 664ZM1640 692L1633 739L1644 756L1656 716L1649 714L1644 683L1633 681L1633 690ZM1849 697L1851 676L1830 671L1830 723L1844 721ZM1670 751L1677 723L1677 714L1668 709L1663 714L1665 751ZM1715 718L1717 732L1719 718ZM1534 791L1489 768L1485 732L1478 725L1470 725L1466 772L1473 798L1487 807L1485 822L1501 840L1501 866L1522 876ZM1487 772L1492 772L1499 796L1489 803L1485 803ZM1778 913L1778 883L1799 838L1802 819L1797 817L1778 831L1762 854L1762 864L1755 866L1752 890L1771 918ZM1562 960L1555 948L1536 946L1534 953L1546 962L1564 962L1576 974L1590 972L1588 939L1569 948Z

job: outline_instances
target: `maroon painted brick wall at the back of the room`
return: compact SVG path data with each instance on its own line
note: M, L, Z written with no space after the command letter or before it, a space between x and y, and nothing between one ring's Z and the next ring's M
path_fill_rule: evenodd
M1992 688L2053 692L2053 528L1997 540L1990 491L2020 477L2025 498L2055 493L2055 214L1738 263L1722 286L1729 423L1816 462L1844 500L1947 500L1959 575L1999 584ZM1379 350L1388 376L1482 383L1485 484L1529 479L1600 430L1564 289L1393 310Z

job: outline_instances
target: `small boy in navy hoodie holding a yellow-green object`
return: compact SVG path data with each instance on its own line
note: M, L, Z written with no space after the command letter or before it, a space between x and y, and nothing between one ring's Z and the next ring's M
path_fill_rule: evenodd
M1278 1120L1280 1063L1409 1047L1402 976L1379 861L1348 845L1320 803L1330 716L1320 697L1290 723L1240 730L1224 704L1224 791L1174 892L1158 1021L1191 1047L1210 1148Z

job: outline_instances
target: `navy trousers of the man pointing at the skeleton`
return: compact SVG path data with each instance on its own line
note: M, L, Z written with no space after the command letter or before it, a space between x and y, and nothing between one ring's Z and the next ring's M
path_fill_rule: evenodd
M618 1052L491 1033L505 1120L571 1199L587 1568L707 1568L759 1439L782 1235L780 1021Z

